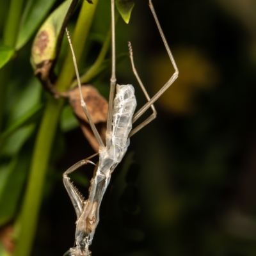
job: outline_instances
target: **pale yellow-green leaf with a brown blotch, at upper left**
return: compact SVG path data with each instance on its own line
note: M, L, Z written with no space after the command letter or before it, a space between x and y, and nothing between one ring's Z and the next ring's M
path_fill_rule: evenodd
M33 68L44 61L54 60L58 36L71 3L72 0L63 2L51 13L36 34L31 52Z

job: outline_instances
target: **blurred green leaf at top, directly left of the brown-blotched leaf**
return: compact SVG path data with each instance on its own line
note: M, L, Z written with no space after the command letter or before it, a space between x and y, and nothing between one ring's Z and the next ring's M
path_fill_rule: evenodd
M56 0L29 0L27 2L15 46L17 50L28 42L55 2Z

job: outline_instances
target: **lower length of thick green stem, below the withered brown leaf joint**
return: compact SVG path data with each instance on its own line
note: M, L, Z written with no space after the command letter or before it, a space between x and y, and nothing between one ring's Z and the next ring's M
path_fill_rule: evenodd
M63 103L64 99L49 99L38 131L29 173L28 187L20 216L19 240L14 253L17 256L27 256L32 250L38 213L42 202L45 175L47 173L52 142L54 141Z

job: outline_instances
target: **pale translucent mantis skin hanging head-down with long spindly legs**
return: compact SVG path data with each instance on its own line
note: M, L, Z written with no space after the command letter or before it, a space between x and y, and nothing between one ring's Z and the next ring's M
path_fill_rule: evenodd
M83 166L86 163L92 163L89 159L97 154L90 156L86 159L79 161L78 163L71 166L65 173L63 173L63 182L65 188L67 189L68 195L74 205L77 221L76 221L76 247L70 248L68 252L65 253L65 256L88 256L91 255L89 246L92 243L93 235L95 233L95 228L99 222L99 207L102 201L102 197L108 187L109 180L111 178L111 173L115 170L115 167L122 158L129 146L129 138L138 132L145 125L150 123L154 118L156 118L156 109L154 108L154 102L168 89L168 87L177 79L179 71L175 60L173 59L172 52L164 38L163 31L158 22L152 1L149 0L149 6L156 20L157 28L163 39L166 51L172 61L174 67L174 74L170 79L164 84L164 86L159 90L159 92L150 99L148 96L145 87L141 83L140 77L136 72L134 67L134 61L132 56L132 47L129 43L129 52L132 64L132 70L136 76L138 83L145 94L148 102L141 109L139 109L135 114L136 108L136 99L134 95L134 88L131 84L127 85L118 85L116 84L115 76L115 0L111 0L111 29L112 29L112 75L110 79L110 92L109 92L109 109L108 109L108 122L107 122L107 131L106 131L106 145L102 142L99 132L95 128L95 125L92 122L90 113L86 108L86 103L83 100L81 93L81 83L79 81L79 74L77 70L76 58L74 56L74 51L72 49L72 44L70 37L68 35L68 41L70 43L70 48L73 54L74 65L76 68L77 82L80 90L81 106L84 110L85 115L90 122L92 127L93 134L99 143L99 163L95 167L95 174L91 180L91 186L89 189L89 198L84 200L83 196L77 191L70 179L68 174L74 172L79 167ZM68 34L68 31L67 31ZM114 99L116 89L116 96ZM132 124L140 118L143 113L148 108L152 108L152 115L150 115L144 122L132 129ZM93 164L93 163L92 163Z

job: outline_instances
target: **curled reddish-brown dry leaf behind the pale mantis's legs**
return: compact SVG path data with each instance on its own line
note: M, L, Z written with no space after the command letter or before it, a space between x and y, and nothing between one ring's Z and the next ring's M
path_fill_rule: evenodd
M104 97L102 97L97 89L91 85L81 86L84 102L88 108L88 111L92 117L93 123L95 124L97 130L99 131L102 141L106 141L106 122L108 118L108 102ZM88 124L88 119L81 107L79 88L76 87L69 90L66 93L69 99L70 106L72 107L74 114L79 120L81 129L84 136L92 145L93 149L98 152L99 145L95 136L93 135L92 129Z

